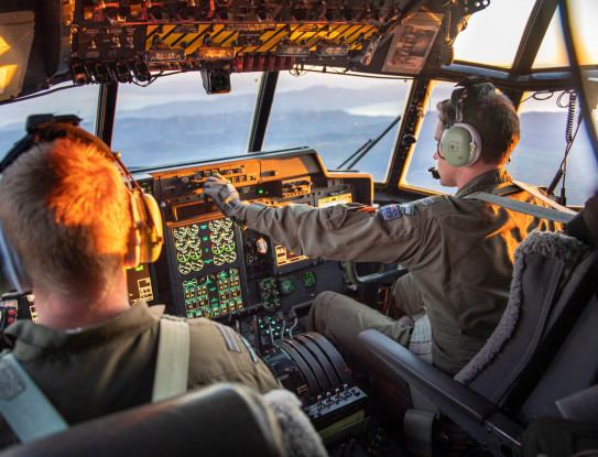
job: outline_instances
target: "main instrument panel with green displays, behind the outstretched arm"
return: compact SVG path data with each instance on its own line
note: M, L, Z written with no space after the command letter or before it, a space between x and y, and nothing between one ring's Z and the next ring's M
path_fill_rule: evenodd
M309 149L145 173L138 181L161 206L165 238L161 259L148 272L157 290L146 293L172 314L225 322L246 335L251 327L248 336L260 346L254 316L263 329L260 339L268 344L292 335L295 316L319 292L347 291L349 281L338 262L297 255L263 233L238 227L211 200L204 202L203 186L219 173L242 200L325 207L370 204L369 175L328 173Z

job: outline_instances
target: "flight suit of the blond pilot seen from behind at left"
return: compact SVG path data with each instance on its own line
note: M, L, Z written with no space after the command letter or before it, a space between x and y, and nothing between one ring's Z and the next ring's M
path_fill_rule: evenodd
M151 400L162 311L140 302L80 331L19 320L7 334L14 339L13 356L66 422L76 424ZM280 389L231 329L203 318L188 324L187 389L220 381L240 382L262 393ZM0 418L0 447L17 442Z

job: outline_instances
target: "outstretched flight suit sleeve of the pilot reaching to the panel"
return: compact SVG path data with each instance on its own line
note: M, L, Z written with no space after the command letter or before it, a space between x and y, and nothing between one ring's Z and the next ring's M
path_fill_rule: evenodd
M313 208L307 205L270 207L246 205L244 224L296 254L328 260L401 262L409 265L418 255L423 229L417 207L407 216L383 220L379 210L358 204Z

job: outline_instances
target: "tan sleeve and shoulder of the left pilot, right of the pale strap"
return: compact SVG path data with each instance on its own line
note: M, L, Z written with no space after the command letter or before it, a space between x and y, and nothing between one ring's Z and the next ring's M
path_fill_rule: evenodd
M188 323L188 389L215 382L240 382L261 393L281 389L262 359L230 327L205 318Z

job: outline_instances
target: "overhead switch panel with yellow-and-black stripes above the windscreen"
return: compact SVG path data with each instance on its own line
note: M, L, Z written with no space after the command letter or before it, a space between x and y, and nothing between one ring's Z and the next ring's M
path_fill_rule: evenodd
M405 13L402 2L84 1L72 26L73 78L145 81L159 70L280 70L314 59L347 67Z

